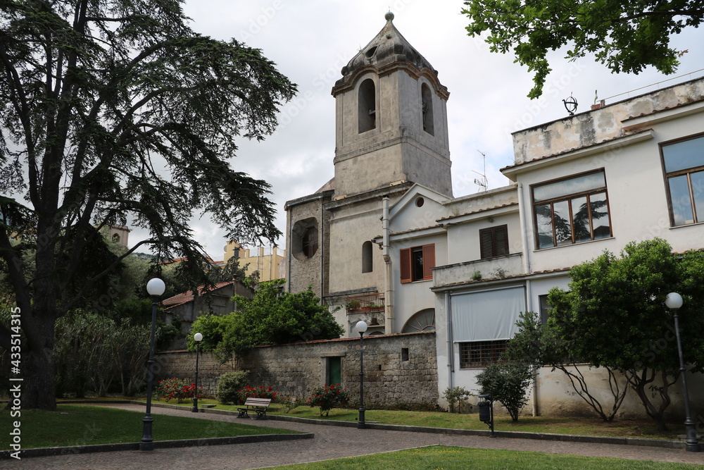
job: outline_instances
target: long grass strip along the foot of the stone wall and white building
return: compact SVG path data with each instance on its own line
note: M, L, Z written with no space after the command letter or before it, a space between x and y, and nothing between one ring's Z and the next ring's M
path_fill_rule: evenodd
M237 405L218 404L217 400L201 399L199 405L217 404L217 409L230 409L235 411ZM166 403L154 400L153 403ZM176 404L174 400L168 402ZM182 403L184 407L191 407L191 402ZM330 415L320 416L318 408L301 406L284 413L281 404L273 403L267 414L282 414L284 416L298 416L310 419L325 419L334 421L356 421L359 413L356 409L332 409ZM446 412L406 412L384 409L367 409L365 413L367 423L378 422L382 424L401 424L406 426L427 426L432 428L453 429L489 429L486 424L479 421L479 415L457 414ZM497 415L494 428L496 431L523 431L528 433L556 433L577 435L601 435L611 437L648 438L678 440L678 435L684 434L682 423L670 424L670 431L659 433L655 423L648 420L619 419L605 423L599 418L582 416L520 416L514 423L508 415Z

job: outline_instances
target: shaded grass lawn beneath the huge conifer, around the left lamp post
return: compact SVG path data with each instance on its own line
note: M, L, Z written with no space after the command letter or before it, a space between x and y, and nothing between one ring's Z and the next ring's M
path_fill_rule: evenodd
M153 439L225 438L236 435L296 433L284 429L247 426L240 423L210 421L152 414ZM136 443L142 440L144 412L122 409L91 407L87 405L59 404L56 412L22 410L19 418L10 416L8 410L0 412L0 429L11 430L13 421L20 421L22 448L65 447L75 445ZM8 431L9 432L9 431ZM10 449L10 435L2 433L0 450Z

